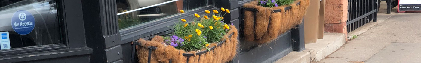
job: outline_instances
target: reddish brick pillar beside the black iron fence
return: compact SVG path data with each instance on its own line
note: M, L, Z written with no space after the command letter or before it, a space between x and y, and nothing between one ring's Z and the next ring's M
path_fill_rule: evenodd
M326 0L325 32L348 33L346 20L348 18L348 0Z

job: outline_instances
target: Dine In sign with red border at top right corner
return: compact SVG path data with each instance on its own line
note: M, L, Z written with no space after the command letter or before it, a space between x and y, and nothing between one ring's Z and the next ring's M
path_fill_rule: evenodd
M398 0L398 12L421 11L421 0Z

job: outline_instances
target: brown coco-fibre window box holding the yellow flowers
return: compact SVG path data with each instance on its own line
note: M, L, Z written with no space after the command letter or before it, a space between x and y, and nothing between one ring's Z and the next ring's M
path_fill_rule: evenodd
M140 63L225 63L231 61L237 54L237 36L238 32L235 26L229 25L228 34L224 35L224 39L219 43L213 43L209 50L185 52L177 50L171 46L161 44L163 38L155 36L150 41L139 39L135 42L137 46L137 55ZM134 55L133 55L134 56Z

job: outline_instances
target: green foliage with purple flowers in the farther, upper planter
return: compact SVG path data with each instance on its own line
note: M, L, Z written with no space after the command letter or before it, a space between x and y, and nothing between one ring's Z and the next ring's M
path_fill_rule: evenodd
M295 0L258 0L258 5L266 7L266 8L273 8L282 5L290 5L294 3Z

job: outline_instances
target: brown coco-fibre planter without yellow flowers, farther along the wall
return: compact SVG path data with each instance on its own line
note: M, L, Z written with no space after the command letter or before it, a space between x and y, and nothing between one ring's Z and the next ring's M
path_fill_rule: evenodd
M273 8L262 7L257 1L244 4L245 40L263 44L301 24L309 0L296 0L294 3Z

